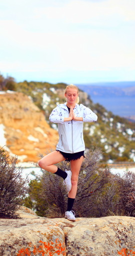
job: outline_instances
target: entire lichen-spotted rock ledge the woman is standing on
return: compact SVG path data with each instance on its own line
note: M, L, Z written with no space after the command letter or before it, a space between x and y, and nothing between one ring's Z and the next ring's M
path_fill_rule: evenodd
M38 217L30 209L20 219L0 219L0 256L133 256L134 218Z

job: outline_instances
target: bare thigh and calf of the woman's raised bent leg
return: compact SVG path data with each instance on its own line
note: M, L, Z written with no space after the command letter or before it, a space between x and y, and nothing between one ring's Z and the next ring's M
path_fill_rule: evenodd
M53 151L41 158L38 162L38 165L40 168L48 172L55 173L57 171L57 167L54 164L57 164L63 160L65 160L65 158L59 151Z

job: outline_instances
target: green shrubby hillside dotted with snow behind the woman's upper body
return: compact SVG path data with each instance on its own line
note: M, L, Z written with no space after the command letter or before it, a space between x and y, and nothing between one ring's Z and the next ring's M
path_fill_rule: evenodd
M17 83L16 91L23 92L28 97L30 96L33 103L40 109L42 115L44 114L47 125L49 125L48 127L51 126L56 130L56 124L49 123L48 116L56 104L64 102L65 86L66 84L64 83L49 84L46 82L24 81ZM112 112L107 111L98 103L94 104L83 91L80 91L79 96L80 102L91 108L98 116L96 123L84 123L86 148L101 148L103 161L135 161L135 123L112 114ZM20 105L20 103L18 104ZM23 121L25 122L25 120ZM40 121L38 124L40 125ZM10 126L9 122L8 126ZM25 123L25 130L27 130L27 123ZM56 131L54 134L56 135ZM36 136L38 138L38 135ZM48 148L49 146L50 144L48 144ZM43 148L41 151L43 151Z

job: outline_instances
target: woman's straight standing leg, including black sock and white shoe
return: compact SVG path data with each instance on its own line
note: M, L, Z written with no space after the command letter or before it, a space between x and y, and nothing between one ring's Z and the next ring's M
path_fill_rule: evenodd
M72 176L71 176L72 186L71 186L71 190L68 193L67 210L65 212L65 218L69 220L75 220L75 217L71 209L72 209L76 192L77 192L78 175L79 175L79 170L80 170L82 161L83 161L83 156L77 160L70 161L71 172L72 172Z

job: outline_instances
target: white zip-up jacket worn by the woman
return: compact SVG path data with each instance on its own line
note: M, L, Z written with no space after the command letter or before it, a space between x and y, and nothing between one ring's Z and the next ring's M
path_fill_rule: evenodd
M70 154L85 150L83 122L95 122L97 120L97 115L82 104L75 104L73 110L75 116L82 117L83 121L64 121L64 117L69 117L66 103L57 105L49 116L49 121L57 123L58 126L59 141L56 150Z

